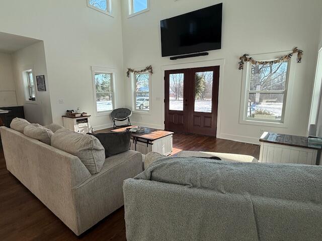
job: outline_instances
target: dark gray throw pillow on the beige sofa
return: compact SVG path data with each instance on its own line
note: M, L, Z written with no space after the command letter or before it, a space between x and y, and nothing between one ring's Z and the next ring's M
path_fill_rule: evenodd
M130 149L131 132L111 132L91 134L95 136L105 149L105 158L114 156L116 154L126 152Z

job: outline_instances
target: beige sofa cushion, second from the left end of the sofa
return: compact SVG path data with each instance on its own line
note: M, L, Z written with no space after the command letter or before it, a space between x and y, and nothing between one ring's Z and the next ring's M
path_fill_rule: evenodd
M54 133L39 124L30 124L24 128L24 134L43 143L50 145L50 139Z

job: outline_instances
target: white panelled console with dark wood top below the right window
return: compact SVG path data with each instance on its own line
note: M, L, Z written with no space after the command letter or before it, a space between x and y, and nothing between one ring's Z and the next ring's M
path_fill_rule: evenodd
M260 162L316 165L319 148L310 147L307 137L264 132L260 138Z

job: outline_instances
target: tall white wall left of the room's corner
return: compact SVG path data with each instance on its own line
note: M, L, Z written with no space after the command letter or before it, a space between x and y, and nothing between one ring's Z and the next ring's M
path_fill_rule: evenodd
M19 4L18 4L19 3ZM52 119L62 124L66 109L95 113L91 66L116 68L115 94L124 105L121 8L112 1L114 18L87 7L85 0L5 1L0 32L44 41ZM64 103L59 104L58 100ZM109 116L92 116L95 127L111 125Z

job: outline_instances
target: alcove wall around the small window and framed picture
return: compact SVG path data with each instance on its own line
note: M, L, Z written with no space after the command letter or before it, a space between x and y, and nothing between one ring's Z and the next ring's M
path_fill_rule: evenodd
M19 105L24 105L25 117L31 123L52 123L50 105L50 83L48 81L44 43L42 41L18 50L12 55L14 77ZM36 101L26 101L23 71L32 69L36 90ZM36 76L45 75L46 91L38 91Z

